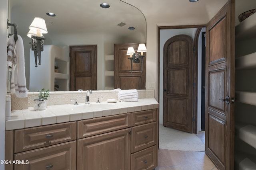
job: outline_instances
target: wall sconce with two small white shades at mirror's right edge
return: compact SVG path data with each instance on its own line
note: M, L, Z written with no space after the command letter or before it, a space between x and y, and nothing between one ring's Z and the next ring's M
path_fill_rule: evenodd
M141 59L141 72L143 72L143 57L146 57L145 55L143 55L143 52L147 52L146 45L139 44L137 52L140 52L140 54L135 53L133 47L128 47L126 55L130 55L128 59L130 59L131 61L131 71L132 71L132 61L133 63L140 63L140 59Z

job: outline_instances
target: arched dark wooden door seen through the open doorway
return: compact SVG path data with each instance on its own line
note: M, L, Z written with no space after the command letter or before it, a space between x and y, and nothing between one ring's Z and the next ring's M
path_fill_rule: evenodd
M176 35L164 44L163 125L193 133L193 39Z

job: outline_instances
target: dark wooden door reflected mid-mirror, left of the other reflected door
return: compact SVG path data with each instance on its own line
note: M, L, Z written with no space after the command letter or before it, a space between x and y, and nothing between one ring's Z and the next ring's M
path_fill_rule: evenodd
M70 46L70 91L97 90L97 45Z

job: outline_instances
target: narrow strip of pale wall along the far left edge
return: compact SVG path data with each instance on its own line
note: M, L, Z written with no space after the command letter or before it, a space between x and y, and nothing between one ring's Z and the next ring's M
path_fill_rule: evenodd
M5 97L6 97L6 72L7 72L7 16L8 0L0 1L0 160L4 160L4 139L5 139ZM4 170L4 164L0 164Z

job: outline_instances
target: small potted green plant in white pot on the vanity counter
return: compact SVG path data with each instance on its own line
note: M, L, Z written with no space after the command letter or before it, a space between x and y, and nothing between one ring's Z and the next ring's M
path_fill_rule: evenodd
M38 99L34 100L34 110L44 110L47 106L47 100L50 97L50 89L37 90L39 92Z

